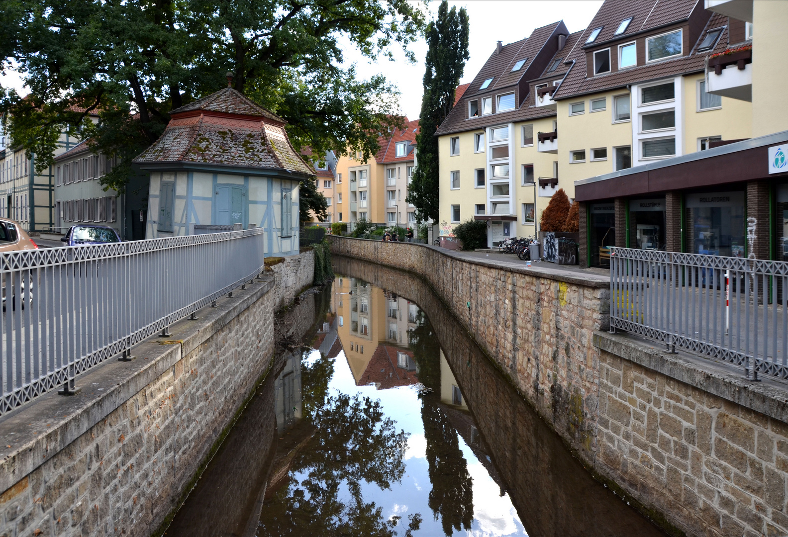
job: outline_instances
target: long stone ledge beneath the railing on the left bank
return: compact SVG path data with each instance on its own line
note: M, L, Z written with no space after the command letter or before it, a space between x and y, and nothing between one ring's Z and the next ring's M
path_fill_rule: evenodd
M173 368L180 359L257 302L273 287L273 278L236 288L232 298L206 307L198 320L180 320L168 338L151 336L132 348L136 359L114 357L76 378L82 391L73 396L56 391L28 402L0 418L0 491L7 491L47 458L69 446L140 390ZM9 449L7 446L11 446Z

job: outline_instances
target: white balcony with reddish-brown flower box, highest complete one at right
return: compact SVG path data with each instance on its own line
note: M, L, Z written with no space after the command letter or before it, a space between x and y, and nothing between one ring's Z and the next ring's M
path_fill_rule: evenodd
M753 101L753 46L725 50L708 58L708 93Z

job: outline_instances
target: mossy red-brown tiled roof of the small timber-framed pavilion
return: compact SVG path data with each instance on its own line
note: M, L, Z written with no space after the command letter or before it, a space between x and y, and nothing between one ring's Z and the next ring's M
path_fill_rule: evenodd
M217 95L221 98L214 98ZM284 169L314 176L314 169L290 143L281 119L269 121L269 117L259 113L265 110L232 88L200 101L203 104L198 108L184 110L184 107L177 111L200 111L199 115L170 120L162 136L136 157L135 162L143 168L146 163L195 162Z

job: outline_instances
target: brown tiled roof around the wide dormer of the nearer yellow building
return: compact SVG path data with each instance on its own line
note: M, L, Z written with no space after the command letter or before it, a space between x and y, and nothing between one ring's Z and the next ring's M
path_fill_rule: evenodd
M610 2L610 0L608 0L608 2L605 2L603 7L607 6L608 3L617 4L618 2ZM723 24L727 24L727 17L714 14L708 20L706 29L719 28L719 26L722 26ZM593 28L593 25L589 25L589 28ZM566 99L572 98L576 95L611 90L617 87L625 87L627 84L641 83L648 80L657 80L666 76L678 76L690 72L702 72L704 70L705 57L707 55L725 50L728 43L728 30L726 28L726 30L723 31L723 35L721 35L717 41L717 45L714 50L705 50L702 53L696 53L695 48L697 47L697 43L700 43L706 35L706 30L704 29L704 31L701 32L697 43L690 44L690 46L692 46L692 54L677 57L671 60L658 61L648 65L638 65L637 67L609 72L604 75L587 77L585 76L587 72L585 65L586 51L582 50L581 46L584 42L584 39L586 39L585 36L588 35L588 31L589 30L585 31L585 35L580 38L581 41L578 43L578 46L574 47L570 57L567 58L567 61L574 60L575 64L569 72L569 75L567 75L567 78L561 84L561 87L559 87L558 91L556 91L556 94L553 96L554 99ZM613 31L615 31L615 29Z

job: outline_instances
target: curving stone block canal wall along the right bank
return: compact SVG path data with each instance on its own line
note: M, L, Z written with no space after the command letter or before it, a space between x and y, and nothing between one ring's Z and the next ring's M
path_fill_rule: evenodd
M609 335L594 281L330 240L333 254L422 277L583 464L671 534L788 535L785 383Z

